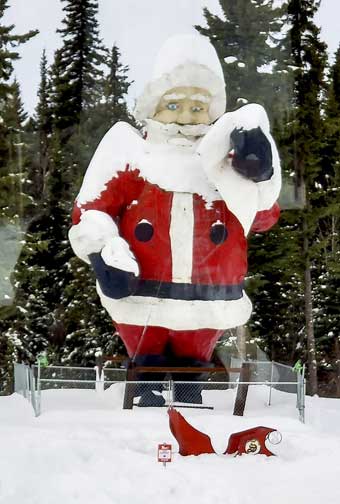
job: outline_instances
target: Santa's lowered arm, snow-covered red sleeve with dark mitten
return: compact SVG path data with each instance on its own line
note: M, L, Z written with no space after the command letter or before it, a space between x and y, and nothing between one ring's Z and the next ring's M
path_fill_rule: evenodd
M74 206L73 226L69 231L75 254L91 262L103 290L105 283L121 286L122 274L126 277L139 274L136 259L120 237L115 220L123 208L138 198L144 181L138 170L125 162L122 153L117 156L117 131L114 129L117 130L116 126L106 134L92 158ZM126 130L119 129L118 132ZM118 277L120 280L114 282ZM114 292L111 294L115 296ZM117 290L116 297L121 294Z

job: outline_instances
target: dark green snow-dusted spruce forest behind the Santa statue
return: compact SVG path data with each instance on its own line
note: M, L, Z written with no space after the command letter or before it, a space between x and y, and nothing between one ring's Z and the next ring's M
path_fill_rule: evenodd
M0 19L7 3L0 0ZM205 9L208 26L197 29L222 61L229 109L240 105L238 98L266 107L284 175L305 196L304 208L282 212L270 232L250 236L251 338L273 359L307 361L308 264L316 356L320 366L335 369L340 48L327 87L325 45L313 22L318 3L291 0L274 8L267 0L221 0L223 19ZM63 5L62 46L50 68L42 55L38 106L29 121L12 68L16 48L35 32L16 36L13 26L0 25L0 216L7 231L8 222L25 231L18 233L23 243L11 275L15 297L0 306L0 393L12 390L16 359L33 362L45 352L51 364L93 365L96 353L124 351L100 305L94 275L74 256L67 235L72 202L97 144L116 121L132 123L128 67L116 46L109 51L101 44L95 0ZM237 60L224 61L230 57Z

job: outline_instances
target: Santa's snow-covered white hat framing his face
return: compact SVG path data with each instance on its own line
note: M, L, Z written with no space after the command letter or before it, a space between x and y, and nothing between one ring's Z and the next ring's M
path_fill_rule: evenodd
M214 47L201 35L176 35L158 52L151 80L136 102L137 120L152 118L161 97L175 87L200 87L212 96L209 115L215 121L225 112L223 70Z

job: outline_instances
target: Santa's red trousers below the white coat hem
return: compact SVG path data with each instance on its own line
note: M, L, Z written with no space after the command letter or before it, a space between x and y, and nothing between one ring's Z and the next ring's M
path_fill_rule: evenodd
M177 357L190 357L200 361L210 361L217 340L224 331L197 329L194 331L173 331L164 327L142 327L116 324L129 357L137 355L162 355L166 347Z

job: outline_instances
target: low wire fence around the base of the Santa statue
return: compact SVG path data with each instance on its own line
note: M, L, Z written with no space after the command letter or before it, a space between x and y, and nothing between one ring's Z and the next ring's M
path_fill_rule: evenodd
M235 366L236 362L233 362ZM122 368L110 367L69 367L40 365L26 366L16 364L14 368L15 392L22 394L29 400L35 415L41 414L42 392L51 389L88 389L97 393L104 392L111 385L125 383L125 400L130 397L130 406L138 406L143 396L143 390L156 390L163 400L156 401L156 405L182 407L200 407L208 409L230 409L230 389L236 388L233 411L235 415L242 415L249 390L254 396L255 389L261 400L270 406L273 404L273 392L276 394L274 403L282 401L285 394L296 396L296 408L300 421L305 421L305 377L304 368L295 372L293 368L275 362L249 362L249 374L230 373L228 379L216 381L215 377L204 381L176 380L175 375L166 377L163 381L131 380L127 379L127 371ZM236 368L231 368L235 370ZM247 379L244 379L244 377ZM243 377L243 379L242 379ZM169 379L168 379L169 378ZM242 381L241 381L242 380ZM262 389L261 389L262 387ZM261 392L259 392L261 389ZM229 390L229 395L225 391ZM248 396L249 397L249 396ZM250 394L250 398L252 398ZM293 401L294 398L292 397ZM122 407L126 401L122 400ZM290 401L291 402L291 401ZM162 404L161 404L162 403ZM163 404L164 403L164 404ZM262 403L263 404L263 403ZM152 405L152 404L151 404Z

